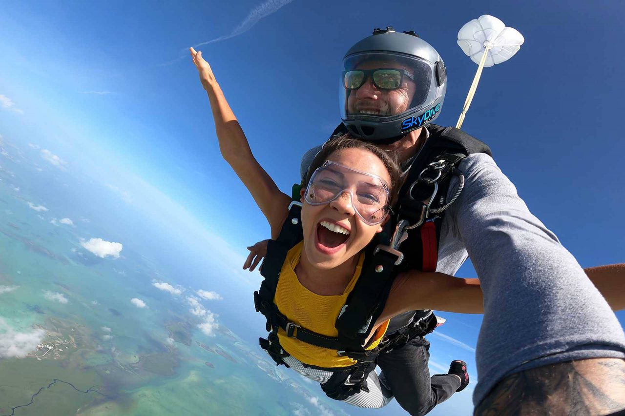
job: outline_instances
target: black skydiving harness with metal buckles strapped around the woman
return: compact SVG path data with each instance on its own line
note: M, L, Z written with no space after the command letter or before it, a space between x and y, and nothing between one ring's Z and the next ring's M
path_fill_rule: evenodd
M430 124L428 129L430 137L412 162L399 194L401 198L396 215L387 222L384 232L379 233L365 249L361 275L336 320L337 337L327 337L297 325L273 302L287 252L303 238L299 202L291 202L279 237L269 240L267 244L261 269L264 280L260 289L254 292L254 306L266 317L269 336L259 339L259 344L276 365L286 365L283 359L289 354L282 349L277 337L278 329L282 328L287 337L337 350L339 355L356 360L356 364L349 367L322 369L333 373L331 379L321 385L332 399L344 400L361 390L368 392L367 375L375 369L381 352L399 348L408 340L424 336L436 327L436 317L431 310L416 311L411 324L387 334L376 348L366 350L362 347L384 309L395 275L410 269L436 270L442 215L455 201L455 198L452 198L454 201L445 201L444 197L451 177L459 174L457 164L471 153L490 154L486 144L454 127ZM461 179L461 185L463 181ZM293 194L294 200L299 199L299 192L294 191ZM405 258L399 251L402 243L402 251L410 253Z

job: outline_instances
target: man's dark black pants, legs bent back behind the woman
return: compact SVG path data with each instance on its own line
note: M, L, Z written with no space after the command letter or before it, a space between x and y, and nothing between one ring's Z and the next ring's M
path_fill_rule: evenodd
M395 396L397 403L411 415L424 415L449 399L460 387L452 374L429 375L429 342L415 337L401 348L382 353L377 365L381 380Z

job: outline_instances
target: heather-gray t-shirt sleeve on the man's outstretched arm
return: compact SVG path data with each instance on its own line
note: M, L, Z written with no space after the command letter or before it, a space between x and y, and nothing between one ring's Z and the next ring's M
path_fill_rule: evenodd
M449 215L484 292L474 404L514 372L624 358L625 335L606 300L492 158L473 154L459 170L466 185Z

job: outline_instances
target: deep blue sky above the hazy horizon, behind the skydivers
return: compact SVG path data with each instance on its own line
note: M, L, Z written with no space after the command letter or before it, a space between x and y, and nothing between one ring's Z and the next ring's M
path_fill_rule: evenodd
M476 69L457 46L457 31L481 14L497 16L526 41L509 62L484 70L464 130L491 146L530 210L582 266L624 261L621 2L3 6L0 134L46 146L68 166L117 189L174 238L201 240L192 244L192 255L213 247L232 264L269 229L219 155L187 47L221 38L198 49L255 156L289 191L303 152L339 122L337 77L349 46L373 27L420 34L446 62L449 84L437 122L451 125ZM466 265L459 275L474 272ZM258 281L241 278L248 279L246 290ZM444 336L431 337L432 361L446 367L463 358L471 365L480 318L447 315ZM619 318L625 322L622 312ZM452 400L466 406L470 395L463 396Z

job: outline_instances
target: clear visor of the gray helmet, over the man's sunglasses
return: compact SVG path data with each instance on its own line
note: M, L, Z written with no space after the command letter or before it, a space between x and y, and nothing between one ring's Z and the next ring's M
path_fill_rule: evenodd
M432 95L433 74L432 62L414 56L382 52L349 56L339 91L342 118L399 118Z

